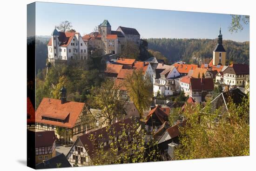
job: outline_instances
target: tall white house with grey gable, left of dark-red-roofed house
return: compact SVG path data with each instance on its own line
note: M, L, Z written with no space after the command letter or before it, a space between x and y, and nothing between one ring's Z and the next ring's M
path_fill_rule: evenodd
M162 64L160 64L161 66ZM154 79L153 79L153 92L154 96L170 96L176 92L175 79L181 74L177 71L175 66L160 67L160 69L155 69Z

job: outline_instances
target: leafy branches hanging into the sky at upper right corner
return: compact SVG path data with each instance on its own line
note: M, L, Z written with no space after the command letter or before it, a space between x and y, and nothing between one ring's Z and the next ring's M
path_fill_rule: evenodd
M243 30L243 25L249 24L249 15L231 15L232 21L229 26L230 33L237 33Z

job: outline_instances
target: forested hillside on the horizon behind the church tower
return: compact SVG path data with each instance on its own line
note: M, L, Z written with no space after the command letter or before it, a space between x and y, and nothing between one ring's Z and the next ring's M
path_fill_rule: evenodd
M162 53L169 62L183 60L189 63L198 63L200 59L212 58L216 39L146 39L148 49ZM236 42L223 40L227 51L227 62L249 64L249 41Z

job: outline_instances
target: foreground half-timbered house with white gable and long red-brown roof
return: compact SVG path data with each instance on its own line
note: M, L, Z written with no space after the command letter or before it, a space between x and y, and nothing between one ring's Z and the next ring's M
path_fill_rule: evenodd
M117 142L118 146L118 139L122 138L121 131L125 130L129 135L129 129L125 128L129 126L133 127L133 125L135 125L134 122L133 118L126 118L78 137L67 153L67 160L72 166L94 165L93 159L96 155L95 151L99 148L108 151L110 143L113 141ZM94 136L95 139L90 138L91 136ZM110 136L115 138L109 139ZM122 149L118 147L118 153L121 153L121 150Z

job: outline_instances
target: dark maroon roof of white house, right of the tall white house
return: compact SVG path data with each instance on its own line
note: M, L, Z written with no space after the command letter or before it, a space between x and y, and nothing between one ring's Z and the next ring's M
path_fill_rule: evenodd
M190 88L191 90L213 90L214 85L213 85L213 79L212 78L201 78L201 79L195 79L191 78L190 79Z

